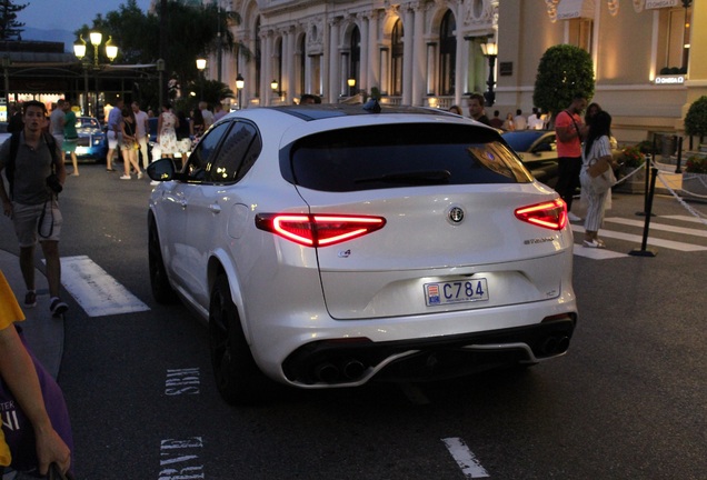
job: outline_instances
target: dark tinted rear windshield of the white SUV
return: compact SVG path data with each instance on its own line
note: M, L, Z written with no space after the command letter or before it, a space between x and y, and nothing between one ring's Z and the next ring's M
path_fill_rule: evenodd
M356 191L397 187L531 182L495 131L449 123L400 123L321 132L281 157L301 187Z

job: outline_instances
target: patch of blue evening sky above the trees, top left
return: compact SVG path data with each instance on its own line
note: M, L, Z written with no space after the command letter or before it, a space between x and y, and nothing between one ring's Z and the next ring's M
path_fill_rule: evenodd
M24 28L73 32L83 23L91 26L98 13L104 16L109 11L119 10L127 0L16 0L13 3L29 3L17 18L24 23ZM147 12L150 0L138 0L138 7Z

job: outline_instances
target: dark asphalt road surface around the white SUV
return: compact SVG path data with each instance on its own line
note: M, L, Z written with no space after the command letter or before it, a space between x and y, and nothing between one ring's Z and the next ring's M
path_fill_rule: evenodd
M707 478L707 227L668 218L690 216L673 198L656 198L654 224L696 233L655 237L701 250L624 256L635 237L605 237L620 257L575 256L580 317L561 359L233 408L216 391L205 326L151 298L149 182L80 170L61 196L61 256L90 257L150 310L88 317L71 300L59 382L78 479ZM640 210L643 197L615 194L609 217L643 221ZM17 252L8 224L0 248Z

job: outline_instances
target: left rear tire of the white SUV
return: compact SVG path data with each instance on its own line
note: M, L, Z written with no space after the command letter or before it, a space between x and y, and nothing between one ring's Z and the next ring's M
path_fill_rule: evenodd
M253 404L268 398L275 383L262 374L252 358L223 273L211 290L209 349L216 386L227 403Z

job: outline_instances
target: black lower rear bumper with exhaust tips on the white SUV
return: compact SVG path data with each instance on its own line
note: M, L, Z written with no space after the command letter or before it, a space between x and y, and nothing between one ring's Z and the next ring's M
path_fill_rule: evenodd
M286 379L300 388L355 387L369 380L425 381L514 363L537 363L566 353L576 316L509 329L427 339L374 342L319 340L282 362Z

